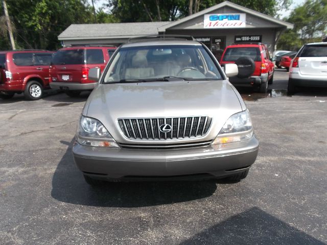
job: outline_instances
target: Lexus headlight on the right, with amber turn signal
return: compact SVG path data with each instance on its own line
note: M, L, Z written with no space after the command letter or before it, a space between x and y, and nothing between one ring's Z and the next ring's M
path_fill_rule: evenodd
M248 110L228 118L212 144L226 144L247 140L253 135L252 121Z

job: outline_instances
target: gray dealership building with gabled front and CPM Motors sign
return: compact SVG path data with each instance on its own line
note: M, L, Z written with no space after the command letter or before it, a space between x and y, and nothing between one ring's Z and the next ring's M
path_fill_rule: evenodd
M207 45L219 57L236 42L262 42L272 55L276 41L293 24L223 2L176 21L72 24L58 39L63 46L78 44L120 45L129 38L145 35L190 35Z

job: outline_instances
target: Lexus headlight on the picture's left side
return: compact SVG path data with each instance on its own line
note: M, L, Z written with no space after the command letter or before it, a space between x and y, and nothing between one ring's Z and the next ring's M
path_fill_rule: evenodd
M77 141L82 145L120 147L103 124L91 117L81 116L76 137Z

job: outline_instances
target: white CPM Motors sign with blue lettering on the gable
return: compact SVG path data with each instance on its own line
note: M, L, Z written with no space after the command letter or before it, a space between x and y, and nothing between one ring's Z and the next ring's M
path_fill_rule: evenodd
M204 28L244 28L246 14L205 14Z

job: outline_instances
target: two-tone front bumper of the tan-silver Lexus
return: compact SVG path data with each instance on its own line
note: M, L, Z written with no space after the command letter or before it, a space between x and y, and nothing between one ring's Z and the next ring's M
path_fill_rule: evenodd
M104 149L75 142L73 156L84 174L97 179L223 178L249 168L258 149L255 136L229 145L174 150Z

